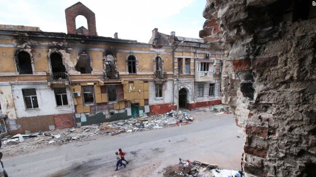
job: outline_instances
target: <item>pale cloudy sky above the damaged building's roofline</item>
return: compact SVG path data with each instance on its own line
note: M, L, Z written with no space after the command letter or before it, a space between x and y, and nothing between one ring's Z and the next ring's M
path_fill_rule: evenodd
M64 10L78 0L12 0L0 1L0 24L40 27L42 31L67 32ZM96 16L99 36L148 42L151 31L198 38L205 19L206 0L81 0ZM86 26L76 18L76 26Z

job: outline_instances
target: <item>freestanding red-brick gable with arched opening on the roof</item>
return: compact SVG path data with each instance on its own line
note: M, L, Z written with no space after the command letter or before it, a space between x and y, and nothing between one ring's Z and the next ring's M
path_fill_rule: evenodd
M67 32L69 34L77 34L76 17L83 15L87 19L88 31L90 36L96 36L95 14L85 5L78 2L69 8L65 9ZM79 27L78 27L79 28Z

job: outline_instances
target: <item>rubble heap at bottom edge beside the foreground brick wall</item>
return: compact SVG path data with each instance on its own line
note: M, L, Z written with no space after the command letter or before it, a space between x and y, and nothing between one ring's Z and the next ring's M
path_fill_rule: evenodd
M236 170L225 170L218 168L217 164L206 162L184 160L179 158L179 164L171 165L163 169L164 177L234 177L238 174Z

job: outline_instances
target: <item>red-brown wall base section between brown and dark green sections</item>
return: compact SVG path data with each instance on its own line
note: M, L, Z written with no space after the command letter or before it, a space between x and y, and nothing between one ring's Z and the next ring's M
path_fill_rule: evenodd
M75 127L75 120L72 113L56 114L53 117L56 129Z

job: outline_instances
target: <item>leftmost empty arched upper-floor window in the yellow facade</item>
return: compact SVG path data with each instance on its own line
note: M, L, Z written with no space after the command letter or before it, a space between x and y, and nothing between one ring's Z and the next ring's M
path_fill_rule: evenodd
M20 74L33 74L30 54L25 51L19 52L17 62Z

